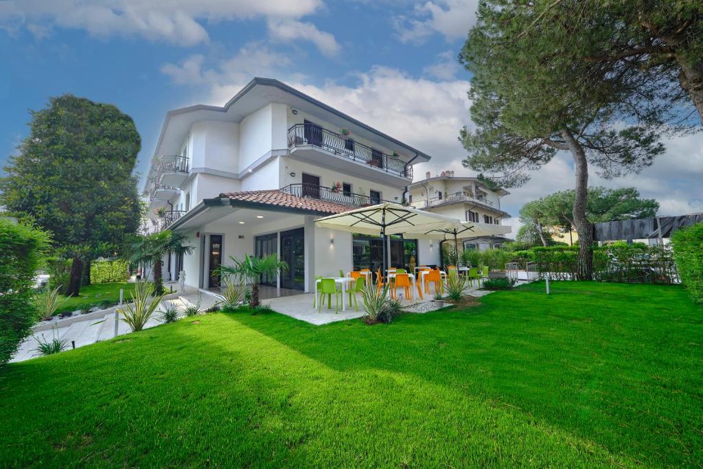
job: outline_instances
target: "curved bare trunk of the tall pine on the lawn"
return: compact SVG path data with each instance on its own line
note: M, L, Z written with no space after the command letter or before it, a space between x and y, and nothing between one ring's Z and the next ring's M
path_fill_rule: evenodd
M569 129L561 129L561 134L574 157L576 175L576 186L574 187L576 196L572 212L576 233L579 233L579 268L576 276L579 280L591 280L593 278L593 225L586 217L588 160L586 160L586 152L581 143L574 139L574 135Z

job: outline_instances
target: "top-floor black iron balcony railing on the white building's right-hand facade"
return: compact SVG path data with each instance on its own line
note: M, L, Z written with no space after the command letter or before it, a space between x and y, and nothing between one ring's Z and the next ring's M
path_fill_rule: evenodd
M335 134L316 124L295 124L288 129L288 148L299 145L312 145L324 148L335 155L383 169L407 179L413 179L413 167L399 158L366 146L354 139Z

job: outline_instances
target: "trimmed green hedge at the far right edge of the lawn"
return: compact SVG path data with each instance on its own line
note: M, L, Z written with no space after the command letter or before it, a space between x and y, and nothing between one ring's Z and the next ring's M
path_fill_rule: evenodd
M674 231L671 244L683 285L703 304L703 222Z

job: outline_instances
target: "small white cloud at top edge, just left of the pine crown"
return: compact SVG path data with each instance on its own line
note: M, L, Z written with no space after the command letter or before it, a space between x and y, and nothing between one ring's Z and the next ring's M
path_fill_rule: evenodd
M402 42L423 42L439 33L447 41L466 37L476 23L478 0L434 0L415 4L413 14L395 18Z

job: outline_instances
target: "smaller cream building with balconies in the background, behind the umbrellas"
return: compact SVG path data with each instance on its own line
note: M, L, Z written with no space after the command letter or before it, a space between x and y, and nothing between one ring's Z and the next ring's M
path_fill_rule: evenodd
M509 192L503 188L493 191L475 177L454 176L444 171L439 176L425 173L425 179L410 186L408 203L413 207L436 212L447 217L474 223L501 225L510 214L501 210L501 198ZM505 226L510 233L510 226ZM510 239L505 236L470 236L464 233L458 239L458 249L484 251L499 248Z

